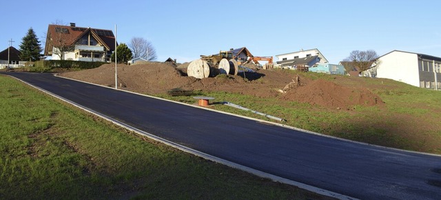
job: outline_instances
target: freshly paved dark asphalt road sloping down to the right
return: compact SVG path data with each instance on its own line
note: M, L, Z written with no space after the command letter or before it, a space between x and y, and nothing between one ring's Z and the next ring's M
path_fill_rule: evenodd
M3 74L158 137L285 179L358 199L441 199L438 156L321 137L52 74Z

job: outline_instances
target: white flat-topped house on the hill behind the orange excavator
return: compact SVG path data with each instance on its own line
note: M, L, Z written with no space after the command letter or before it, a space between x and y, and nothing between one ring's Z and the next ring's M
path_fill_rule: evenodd
M300 61L305 64L308 58L311 57L314 57L314 59L316 59L316 63L312 64L309 67L316 66L319 63L328 63L328 60L325 58L325 56L323 56L323 54L316 48L311 50L300 50L298 52L290 52L286 54L278 54L276 55L276 57L278 59L278 66L288 68L294 68L296 65L298 65Z

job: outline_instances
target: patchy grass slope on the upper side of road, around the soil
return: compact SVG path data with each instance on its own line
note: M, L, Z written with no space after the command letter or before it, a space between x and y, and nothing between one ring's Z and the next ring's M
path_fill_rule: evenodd
M378 94L385 104L351 106L349 110L336 110L336 108L311 106L309 103L281 101L277 97L258 98L228 92L199 92L198 95L215 97L211 108L216 110L271 121L252 112L216 103L229 101L245 108L287 119L287 122L283 123L289 126L380 146L441 154L441 91L417 88L389 79L313 72L302 73L302 76L310 79L327 79L342 86L367 88ZM265 77L258 81L265 82ZM280 88L274 88L276 89ZM195 103L192 97L171 97L167 94L159 96Z

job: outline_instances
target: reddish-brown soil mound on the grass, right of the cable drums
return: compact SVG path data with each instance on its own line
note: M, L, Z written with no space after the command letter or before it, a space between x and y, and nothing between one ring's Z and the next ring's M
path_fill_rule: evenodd
M289 90L282 99L299 101L330 108L350 108L351 106L364 105L376 106L384 104L377 94L365 88L348 88L337 85L331 81L318 79L305 86Z

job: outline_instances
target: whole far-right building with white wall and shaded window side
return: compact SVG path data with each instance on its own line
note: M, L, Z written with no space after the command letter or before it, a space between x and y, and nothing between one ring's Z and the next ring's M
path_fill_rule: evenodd
M420 88L441 88L441 58L393 50L378 57L378 78L402 81Z

